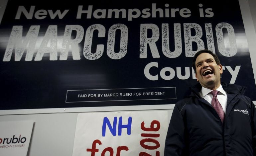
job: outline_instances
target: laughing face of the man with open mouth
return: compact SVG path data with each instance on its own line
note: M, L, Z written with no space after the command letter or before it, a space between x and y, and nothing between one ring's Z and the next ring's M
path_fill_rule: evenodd
M217 65L209 53L201 53L195 60L196 80L201 86L215 90L220 86L220 75L223 73L221 64Z

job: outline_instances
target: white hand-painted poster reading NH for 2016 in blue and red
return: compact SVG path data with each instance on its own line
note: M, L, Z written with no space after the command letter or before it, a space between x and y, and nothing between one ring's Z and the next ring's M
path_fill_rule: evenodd
M167 111L79 113L72 156L164 154Z

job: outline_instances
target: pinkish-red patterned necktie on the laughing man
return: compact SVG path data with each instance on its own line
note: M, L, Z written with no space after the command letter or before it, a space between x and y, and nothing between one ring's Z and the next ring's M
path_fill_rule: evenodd
M212 100L211 100L211 105L215 109L215 111L217 112L217 114L219 115L219 117L221 119L221 122L223 123L225 114L224 114L224 111L222 109L222 106L220 105L220 103L217 99L217 95L218 95L219 91L215 90L215 91L211 91L210 93L213 96Z

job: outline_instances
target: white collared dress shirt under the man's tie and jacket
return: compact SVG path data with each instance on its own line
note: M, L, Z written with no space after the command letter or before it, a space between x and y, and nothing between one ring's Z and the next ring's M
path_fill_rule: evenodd
M227 93L224 91L224 89L222 88L222 86L220 85L219 88L216 89L217 91L219 91L218 95L217 95L217 99L220 103L220 105L222 106L222 109L224 111L224 113L226 114L226 107L227 107ZM204 98L209 104L211 104L211 100L212 100L212 95L211 92L212 90L208 89L208 88L204 88L202 87L201 92L199 92L199 95Z

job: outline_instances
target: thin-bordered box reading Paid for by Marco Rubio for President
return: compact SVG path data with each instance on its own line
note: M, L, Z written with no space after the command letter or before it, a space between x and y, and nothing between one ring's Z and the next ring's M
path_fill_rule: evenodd
M176 99L176 87L67 90L66 103Z

